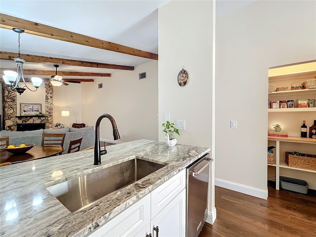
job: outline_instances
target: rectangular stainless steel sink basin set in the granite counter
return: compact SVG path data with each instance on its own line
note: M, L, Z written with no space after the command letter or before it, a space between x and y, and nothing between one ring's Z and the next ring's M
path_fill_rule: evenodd
M136 157L46 189L68 210L77 212L164 166Z

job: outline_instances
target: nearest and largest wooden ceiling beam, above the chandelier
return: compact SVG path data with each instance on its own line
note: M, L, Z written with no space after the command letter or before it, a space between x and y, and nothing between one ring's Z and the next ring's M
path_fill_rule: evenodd
M117 43L105 40L99 40L88 36L80 35L74 32L65 31L55 27L43 25L40 23L24 20L21 18L9 16L0 13L0 27L5 29L20 28L26 33L42 36L54 40L62 40L71 43L77 43L84 46L105 49L118 53L129 54L133 56L158 60L158 54L142 51L136 48L127 47Z

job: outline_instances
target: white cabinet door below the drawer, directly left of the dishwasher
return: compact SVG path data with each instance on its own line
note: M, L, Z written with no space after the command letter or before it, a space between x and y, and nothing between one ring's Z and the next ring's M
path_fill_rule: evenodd
M154 230L158 226L159 235ZM182 190L151 221L153 237L186 236L186 189Z

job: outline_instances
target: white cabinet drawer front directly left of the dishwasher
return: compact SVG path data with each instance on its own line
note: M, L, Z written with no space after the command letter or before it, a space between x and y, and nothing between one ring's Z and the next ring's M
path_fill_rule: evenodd
M174 197L186 187L186 169L182 170L152 192L153 219Z

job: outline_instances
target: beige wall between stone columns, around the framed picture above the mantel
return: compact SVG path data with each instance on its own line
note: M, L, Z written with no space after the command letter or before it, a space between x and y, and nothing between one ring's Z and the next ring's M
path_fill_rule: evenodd
M26 82L30 89L35 90L32 82ZM19 86L23 87L24 83L19 83ZM34 103L41 104L41 112L45 114L45 84L42 82L37 91L26 90L20 95L16 93L16 107L17 107L17 116L20 116L20 103Z

